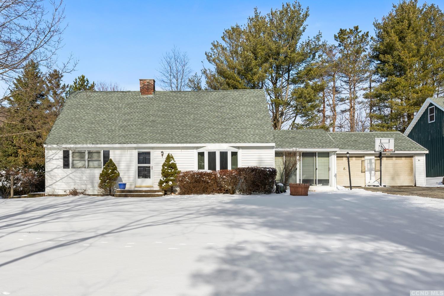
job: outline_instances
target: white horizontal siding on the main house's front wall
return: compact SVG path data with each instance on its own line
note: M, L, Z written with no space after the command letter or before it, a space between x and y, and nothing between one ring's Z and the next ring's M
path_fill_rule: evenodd
M197 170L197 149L202 147L143 147L143 148L107 148L110 158L115 162L120 177L117 182L127 183L127 189L135 188L135 150L152 150L153 186L157 188L162 175L162 164L166 155L171 153L177 163L178 170ZM270 166L274 167L274 147L238 147L239 166ZM93 150L78 148L77 151ZM99 150L99 149L94 149ZM163 156L161 155L163 151ZM101 154L102 155L102 154ZM245 157L245 158L244 158ZM70 154L70 162L72 157ZM65 194L65 190L86 189L88 194L99 194L99 174L102 168L70 168L63 169L63 149L46 148L46 192ZM54 190L54 192L53 192Z

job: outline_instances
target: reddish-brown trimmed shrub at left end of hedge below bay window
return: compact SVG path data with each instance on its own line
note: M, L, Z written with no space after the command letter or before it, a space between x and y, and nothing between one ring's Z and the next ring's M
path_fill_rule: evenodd
M216 171L186 171L176 178L179 194L214 194L222 193Z

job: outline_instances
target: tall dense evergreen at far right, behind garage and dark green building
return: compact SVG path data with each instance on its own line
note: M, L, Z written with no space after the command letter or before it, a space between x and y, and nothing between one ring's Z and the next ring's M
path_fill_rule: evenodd
M375 21L373 130L404 131L425 99L443 95L444 14L435 4L402 0Z

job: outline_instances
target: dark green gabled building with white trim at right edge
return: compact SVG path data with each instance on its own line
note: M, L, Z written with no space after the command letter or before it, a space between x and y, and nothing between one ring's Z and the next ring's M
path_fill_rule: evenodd
M428 149L426 177L444 176L444 98L429 98L404 132Z

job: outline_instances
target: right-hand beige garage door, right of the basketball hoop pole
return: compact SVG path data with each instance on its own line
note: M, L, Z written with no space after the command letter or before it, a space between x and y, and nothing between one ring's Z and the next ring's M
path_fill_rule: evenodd
M379 166L379 159L377 162ZM379 178L379 172L376 172ZM382 184L387 186L412 186L413 156L382 156Z

